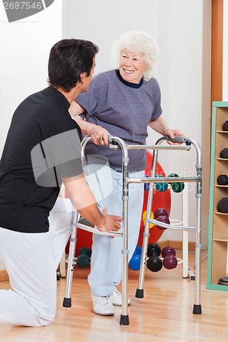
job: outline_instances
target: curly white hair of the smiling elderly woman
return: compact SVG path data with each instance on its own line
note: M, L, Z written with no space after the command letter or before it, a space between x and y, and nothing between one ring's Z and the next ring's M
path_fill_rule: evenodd
M159 62L160 49L157 47L157 42L149 34L142 31L126 32L112 45L110 58L115 68L119 66L123 49L144 53L147 70L145 70L142 78L144 81L149 81L153 77Z

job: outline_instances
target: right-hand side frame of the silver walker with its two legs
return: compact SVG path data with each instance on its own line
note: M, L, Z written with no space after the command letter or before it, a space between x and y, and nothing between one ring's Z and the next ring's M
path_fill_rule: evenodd
M143 290L143 283L144 283L144 273L145 273L145 266L147 263L147 246L149 241L149 224L157 224L162 226L163 228L173 229L177 231L194 231L196 233L196 244L195 244L195 289L194 289L194 306L192 313L194 314L201 314L201 197L202 197L202 156L201 156L201 148L197 142L190 139L189 137L176 137L176 142L184 142L186 143L186 150L189 150L190 146L193 145L196 153L197 153L197 163L196 163L196 176L194 177L162 177L155 178L155 170L157 165L157 156L158 150L164 148L175 148L175 145L171 146L162 146L162 142L165 140L170 140L168 137L161 137L155 145L157 147L153 148L153 161L151 167L151 177L147 178L147 182L150 181L149 186L149 196L147 202L147 217L145 221L144 233L143 233L143 240L142 240L142 257L140 263L140 275L138 280L138 289L136 290L136 298L143 298L144 297L144 290ZM181 147L181 146L179 146ZM152 203L153 203L153 187L154 183L156 182L167 182L167 183L174 183L174 182L196 182L197 183L197 191L196 191L196 199L197 199L197 224L196 227L190 226L175 226L172 224L165 224L159 222L157 220L153 220L149 217L151 213ZM130 183L135 183L136 179L131 179Z

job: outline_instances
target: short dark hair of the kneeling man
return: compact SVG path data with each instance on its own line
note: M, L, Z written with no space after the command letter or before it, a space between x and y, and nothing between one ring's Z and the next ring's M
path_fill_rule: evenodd
M48 83L70 92L80 81L81 73L90 75L93 57L99 48L89 40L63 39L55 43L49 55Z

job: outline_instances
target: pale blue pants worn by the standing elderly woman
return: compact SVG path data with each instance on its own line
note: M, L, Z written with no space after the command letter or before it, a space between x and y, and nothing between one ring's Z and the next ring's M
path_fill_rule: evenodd
M111 174L110 174L111 172ZM130 177L143 177L144 171L129 174ZM110 168L99 170L99 183L88 178L90 189L99 203L101 209L107 208L110 215L123 215L122 187L123 174ZM129 260L131 259L138 241L140 221L142 217L142 204L144 184L129 185ZM121 228L122 229L122 228ZM123 239L121 237L105 237L93 235L92 257L88 282L94 295L112 295L114 285L122 279Z

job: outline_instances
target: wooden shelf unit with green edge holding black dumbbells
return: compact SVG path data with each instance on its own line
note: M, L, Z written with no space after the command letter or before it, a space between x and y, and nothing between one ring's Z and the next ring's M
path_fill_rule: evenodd
M206 287L222 291L228 291L228 286L218 285L220 278L228 276L228 213L218 212L217 206L221 198L228 198L228 185L218 185L217 178L220 174L228 175L228 159L220 158L223 148L228 148L228 131L223 131L223 124L227 120L228 102L213 102Z

